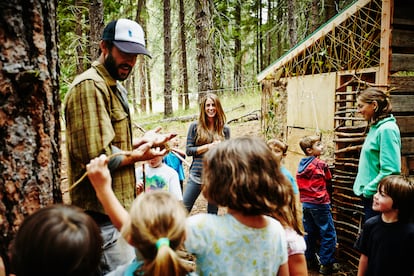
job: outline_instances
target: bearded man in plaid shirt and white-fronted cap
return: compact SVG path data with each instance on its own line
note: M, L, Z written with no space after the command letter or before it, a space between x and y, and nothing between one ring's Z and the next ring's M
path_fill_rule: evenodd
M104 29L100 50L98 60L75 78L65 99L69 186L81 178L91 159L106 154L110 157L113 190L129 209L136 195L134 163L165 154L165 150L153 147L175 135L161 135L155 129L133 139L127 91L118 81L129 76L138 54L149 56L141 26L128 19L112 21ZM111 157L117 152L131 154ZM72 204L83 208L101 228L101 274L131 261L135 257L132 247L117 242L120 234L105 214L88 178L74 186L70 196Z

